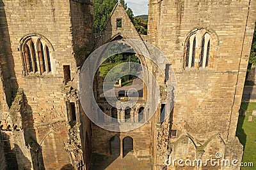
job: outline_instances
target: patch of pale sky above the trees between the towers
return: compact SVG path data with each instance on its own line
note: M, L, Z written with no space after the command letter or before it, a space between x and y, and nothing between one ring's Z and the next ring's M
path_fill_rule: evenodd
M125 0L125 3L132 9L134 16L148 15L148 0Z

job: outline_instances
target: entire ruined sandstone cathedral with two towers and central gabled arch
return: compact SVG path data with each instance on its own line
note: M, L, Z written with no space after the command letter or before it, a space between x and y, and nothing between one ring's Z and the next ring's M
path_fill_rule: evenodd
M92 0L0 1L0 169L91 169L113 153L120 161L116 169L239 169L180 167L165 160L204 162L220 153L223 159L241 162L243 145L236 127L255 10L254 0L149 0L148 32L140 35L116 4L106 28L95 36ZM141 55L141 65L156 76L159 103L143 93L129 111L118 110L100 97L99 74L95 86L88 87L106 115L119 124L131 118L140 127L108 131L84 113L81 67L94 50L116 39L145 41L167 57L165 69L172 66L177 93L164 122L159 117L168 105L168 78ZM136 52L136 45L131 48ZM146 121L147 100L157 109ZM97 115L97 110L92 113ZM108 117L104 122L111 124Z

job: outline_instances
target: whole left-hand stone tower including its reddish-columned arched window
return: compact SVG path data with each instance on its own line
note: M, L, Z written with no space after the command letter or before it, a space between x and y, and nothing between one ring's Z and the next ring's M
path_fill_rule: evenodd
M0 10L7 169L88 167L90 124L76 120L78 68L94 44L92 1L0 1ZM79 135L82 126L88 135Z

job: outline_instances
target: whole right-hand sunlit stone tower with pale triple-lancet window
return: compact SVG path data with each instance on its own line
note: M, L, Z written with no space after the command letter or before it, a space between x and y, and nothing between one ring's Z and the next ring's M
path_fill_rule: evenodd
M217 152L241 161L236 126L255 7L247 0L149 1L148 39L168 56L177 78L170 122L160 128L170 128L168 146L162 141L166 135L156 139L155 169L168 157L205 161Z

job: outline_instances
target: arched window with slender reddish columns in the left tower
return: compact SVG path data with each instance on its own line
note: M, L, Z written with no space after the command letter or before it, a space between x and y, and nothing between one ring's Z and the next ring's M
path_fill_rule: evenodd
M30 36L20 43L25 75L49 73L52 71L49 41L42 37ZM52 49L52 48L51 48Z

